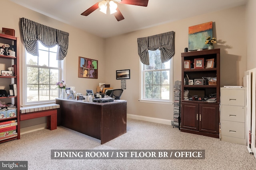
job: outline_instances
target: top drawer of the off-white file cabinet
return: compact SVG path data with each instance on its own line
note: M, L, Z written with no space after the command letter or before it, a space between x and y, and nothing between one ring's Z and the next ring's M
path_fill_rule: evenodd
M244 90L225 90L222 89L221 104L232 106L245 106Z

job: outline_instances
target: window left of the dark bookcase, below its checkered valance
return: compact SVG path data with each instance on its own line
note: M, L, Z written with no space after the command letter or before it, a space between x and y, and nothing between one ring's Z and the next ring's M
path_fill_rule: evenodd
M160 51L148 51L149 65L142 64L142 101L170 102L172 99L172 59L162 63Z

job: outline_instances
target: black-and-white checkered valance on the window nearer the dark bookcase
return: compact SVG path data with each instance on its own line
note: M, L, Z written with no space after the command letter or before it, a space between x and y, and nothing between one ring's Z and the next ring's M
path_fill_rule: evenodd
M148 50L155 51L157 49L161 52L162 63L169 61L175 54L174 36L175 32L170 31L149 37L138 38L138 54L140 56L140 61L143 64L149 65Z

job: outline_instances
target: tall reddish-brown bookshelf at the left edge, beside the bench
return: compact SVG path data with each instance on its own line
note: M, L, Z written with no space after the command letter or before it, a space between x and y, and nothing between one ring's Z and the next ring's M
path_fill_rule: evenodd
M5 48L3 47L5 46ZM0 101L5 104L13 104L16 106L16 110L2 111L2 118L0 118L0 127L7 126L10 122L17 122L15 126L8 126L9 128L1 128L0 143L10 141L13 139L20 139L20 80L19 80L19 47L17 37L5 35L0 33L0 48L4 49L4 53L0 55L0 70L3 72L8 70L9 67L14 67L13 74L11 76L4 76L7 74L0 75L0 89L6 90L7 95L0 96ZM8 50L15 51L15 56L10 55ZM16 84L15 96L10 96L10 84ZM10 107L9 107L10 108ZM16 115L14 114L16 112ZM6 114L4 116L4 114ZM12 129L8 131L8 129ZM15 130L13 132L13 130ZM15 133L16 132L16 133ZM3 134L4 133L4 134ZM9 136L7 136L9 135Z

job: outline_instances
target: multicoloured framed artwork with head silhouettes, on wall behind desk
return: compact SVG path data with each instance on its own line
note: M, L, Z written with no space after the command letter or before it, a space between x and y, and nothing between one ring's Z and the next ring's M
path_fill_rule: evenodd
M78 77L98 79L98 60L78 57Z

